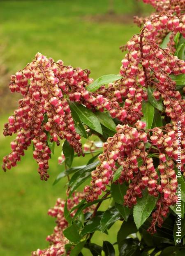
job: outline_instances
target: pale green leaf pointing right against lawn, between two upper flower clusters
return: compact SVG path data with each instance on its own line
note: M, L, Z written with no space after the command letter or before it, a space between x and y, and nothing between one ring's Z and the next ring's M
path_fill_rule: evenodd
M96 90L99 89L100 86L108 84L108 83L112 83L118 79L121 79L122 76L120 75L105 75L105 76L101 76L99 78L97 78L93 83L91 83L90 85L88 85L86 87L86 89L89 92L95 92Z

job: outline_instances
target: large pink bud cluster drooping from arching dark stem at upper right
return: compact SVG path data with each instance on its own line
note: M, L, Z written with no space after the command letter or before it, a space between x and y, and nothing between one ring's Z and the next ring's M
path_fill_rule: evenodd
M128 53L122 60L120 69L123 79L109 86L107 97L114 99L116 92L121 100L125 97L125 110L141 111L141 102L147 98L146 88L150 86L154 89L156 100L160 100L162 96L166 114L172 120L184 123L185 100L175 91L176 83L169 74L184 74L185 61L173 56L169 48L162 49L156 43L157 33L165 28L185 36L185 16L178 18L172 14L153 15L153 19L144 24L141 33L134 35L127 43Z

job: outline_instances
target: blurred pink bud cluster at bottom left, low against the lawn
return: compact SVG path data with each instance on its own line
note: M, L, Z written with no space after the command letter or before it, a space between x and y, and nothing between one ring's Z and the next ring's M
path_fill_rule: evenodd
M83 193L72 194L72 198L67 199L67 209L70 211L74 206L80 203L83 199ZM48 214L53 218L56 218L57 225L53 230L53 234L46 238L46 241L50 243L50 247L44 250L37 249L32 252L32 256L61 256L69 255L70 251L65 251L65 245L69 243L69 240L64 236L63 230L68 227L67 220L64 217L65 200L60 198L57 199L55 206L49 209ZM83 210L83 213L93 211L95 206L87 207ZM76 210L72 211L71 217L74 217Z

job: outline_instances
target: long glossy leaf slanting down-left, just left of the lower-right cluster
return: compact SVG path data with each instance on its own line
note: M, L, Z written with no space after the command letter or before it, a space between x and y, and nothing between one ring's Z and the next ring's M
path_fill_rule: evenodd
M88 177L90 177L91 171L99 164L99 161L93 162L87 165L83 169L80 169L72 176L69 186L71 187L69 196L79 187Z

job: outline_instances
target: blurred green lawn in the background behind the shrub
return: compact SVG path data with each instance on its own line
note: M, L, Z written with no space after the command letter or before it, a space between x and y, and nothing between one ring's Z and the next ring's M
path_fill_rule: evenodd
M111 20L95 23L84 18L106 13L107 2L0 1L0 45L5 45L2 57L9 71L22 68L39 51L56 60L62 59L65 64L90 69L93 78L118 73L124 56L119 46L139 29L133 24L116 24ZM115 1L118 13L129 14L133 8L134 1ZM9 114L4 109L0 119L0 159L9 153L12 140L2 136L3 123ZM31 148L16 168L0 172L0 255L27 256L37 248L48 246L45 238L51 234L55 220L47 216L47 210L58 197L65 198L66 180L52 186L61 169L57 165L60 151L61 147L55 148L50 160L51 178L47 182L39 180ZM80 158L74 165L83 163L84 159ZM93 242L102 244L103 239L116 242L119 226L120 223L113 226L109 238L96 232ZM90 255L89 251L85 250L84 255Z

